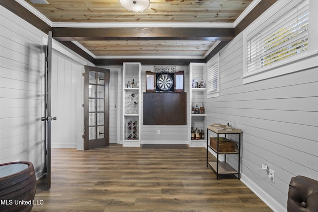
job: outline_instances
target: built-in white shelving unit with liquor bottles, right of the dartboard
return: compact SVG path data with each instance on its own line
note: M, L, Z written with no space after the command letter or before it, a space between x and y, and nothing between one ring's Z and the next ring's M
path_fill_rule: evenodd
M204 119L206 117L206 113L200 113L200 114L193 114L192 113L192 104L194 107L198 105L200 108L201 103L203 103L203 106L205 107L206 103L206 82L207 82L207 64L206 63L190 63L189 64L189 95L190 95L190 104L189 104L189 145L190 146L206 146L206 136L207 136L207 130L204 125ZM193 85L193 81L197 79L198 87L195 87L195 84ZM205 86L199 87L200 82L203 79L205 82ZM204 138L203 139L191 139L191 128L203 130L204 132Z

